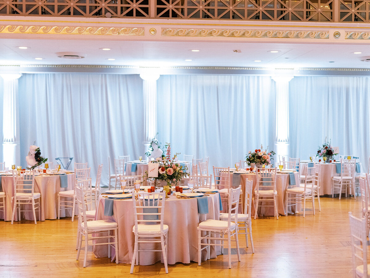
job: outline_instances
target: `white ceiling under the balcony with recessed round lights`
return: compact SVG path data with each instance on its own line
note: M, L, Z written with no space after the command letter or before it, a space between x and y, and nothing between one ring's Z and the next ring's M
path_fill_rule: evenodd
M27 46L28 49L19 49ZM108 47L104 51L100 48ZM198 49L199 52L191 52ZM233 50L240 50L236 53ZM279 50L270 53L270 50ZM353 54L353 52L362 54ZM76 52L84 59L62 59L58 52ZM0 64L95 64L125 66L236 66L369 68L367 44L137 42L0 38ZM41 57L43 60L35 60ZM107 60L114 58L114 61ZM192 59L186 62L185 59ZM262 62L254 62L261 60Z

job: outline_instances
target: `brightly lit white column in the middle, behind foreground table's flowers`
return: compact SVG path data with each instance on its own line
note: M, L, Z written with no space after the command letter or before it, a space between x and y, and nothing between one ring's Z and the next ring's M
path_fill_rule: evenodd
M144 95L144 146L147 152L149 144L157 135L157 80L158 73L140 74Z

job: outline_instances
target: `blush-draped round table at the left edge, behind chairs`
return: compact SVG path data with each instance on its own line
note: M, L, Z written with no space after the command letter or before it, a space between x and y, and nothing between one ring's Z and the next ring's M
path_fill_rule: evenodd
M57 209L58 209L58 192L60 191L67 191L73 190L74 185L74 173L65 174L67 175L68 179L68 187L61 188L60 187L60 175L38 175L35 176L35 186L34 192L40 192L40 220L45 221L45 219L56 219L57 218ZM0 211L0 218L4 219L4 221L11 221L11 214L13 210L13 202L11 201L11 197L14 196L14 188L13 188L13 176L12 175L1 175L1 188L3 192L5 192L5 208L4 212ZM27 205L26 209L31 209L31 205ZM38 218L38 209L36 209L36 218ZM67 211L67 215L70 214L71 216L71 209L62 210L60 216L64 217L65 212ZM33 220L32 211L30 212L22 212L21 218L27 220ZM18 215L14 216L14 220L18 221Z

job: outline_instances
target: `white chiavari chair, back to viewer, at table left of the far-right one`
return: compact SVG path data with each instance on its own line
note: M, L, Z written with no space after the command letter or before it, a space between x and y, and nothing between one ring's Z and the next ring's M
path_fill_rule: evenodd
M256 168L257 185L254 191L255 195L255 219L258 213L258 207L273 207L274 216L279 219L277 212L277 191L276 191L276 168ZM259 199L259 198L263 199ZM261 205L259 205L261 202ZM273 203L267 205L266 203ZM261 210L262 215L262 210Z

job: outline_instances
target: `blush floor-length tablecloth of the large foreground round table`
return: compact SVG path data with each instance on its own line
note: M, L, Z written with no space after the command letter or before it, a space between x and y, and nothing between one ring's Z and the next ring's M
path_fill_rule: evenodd
M102 194L104 195L104 193ZM118 223L118 256L119 261L131 264L134 254L135 237L132 232L134 224L134 208L132 199L117 199L113 201L113 215L104 215L105 198L99 197L98 209L95 220L112 219ZM198 214L196 198L178 199L171 195L165 201L164 224L168 229L168 264L182 262L188 264L191 261L198 262L198 224L206 219L219 220L220 217L219 194L208 196L208 214ZM147 244L152 246L154 244ZM156 249L161 249L160 244L155 245ZM141 249L152 249L152 247L140 245ZM104 245L95 245L93 249L97 258L108 257L108 250ZM112 259L114 258L114 248L111 249ZM221 254L220 246L211 246L211 258ZM208 258L207 248L202 251L202 260ZM139 252L139 264L151 265L157 261L162 261L161 252Z

